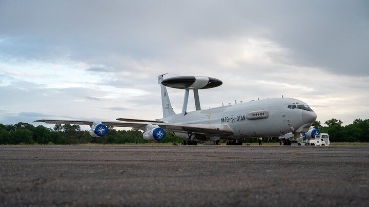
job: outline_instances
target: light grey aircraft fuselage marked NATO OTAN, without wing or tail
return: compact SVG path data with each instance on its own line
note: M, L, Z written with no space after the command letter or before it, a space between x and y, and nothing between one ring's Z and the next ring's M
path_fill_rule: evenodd
M190 111L185 116L175 114L163 118L162 121L188 124L227 124L234 132L233 135L227 137L228 139L279 136L290 132L308 131L311 123L316 119L316 113L310 108L310 110L293 108L291 107L293 103L306 105L297 99L272 98ZM176 135L186 136L184 133L176 133ZM221 138L224 139L224 137Z

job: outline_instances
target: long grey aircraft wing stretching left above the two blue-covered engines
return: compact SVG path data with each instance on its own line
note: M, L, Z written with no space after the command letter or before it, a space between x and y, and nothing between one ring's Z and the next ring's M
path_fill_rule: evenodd
M78 124L92 126L93 121L83 120L36 120L34 122L44 122L46 124ZM101 121L101 123L107 126L115 127L134 127L141 128L147 124L158 125L166 131L173 132L195 132L201 134L212 135L231 135L232 129L224 124L182 124L182 123L160 123L160 122L125 122L125 121Z

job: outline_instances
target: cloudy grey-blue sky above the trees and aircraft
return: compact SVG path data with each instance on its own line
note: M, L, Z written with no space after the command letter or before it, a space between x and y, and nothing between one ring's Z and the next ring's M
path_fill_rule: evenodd
M369 119L368 11L366 0L0 0L0 123L159 119L165 73L222 80L199 91L202 109L283 96L322 124ZM168 94L180 112L183 90Z

